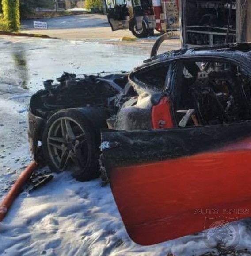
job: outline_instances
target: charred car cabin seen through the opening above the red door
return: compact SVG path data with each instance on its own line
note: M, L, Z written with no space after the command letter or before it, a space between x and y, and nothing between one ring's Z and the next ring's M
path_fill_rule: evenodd
M240 66L187 61L180 66L176 81L177 111L194 109L195 113L187 126L251 119L251 78ZM177 112L177 123L183 115Z

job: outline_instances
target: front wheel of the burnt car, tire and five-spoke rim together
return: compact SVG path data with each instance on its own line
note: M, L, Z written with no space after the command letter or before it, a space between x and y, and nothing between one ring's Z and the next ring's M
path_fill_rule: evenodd
M44 158L52 171L72 171L87 181L99 176L99 147L88 119L76 109L63 109L51 116L42 138Z

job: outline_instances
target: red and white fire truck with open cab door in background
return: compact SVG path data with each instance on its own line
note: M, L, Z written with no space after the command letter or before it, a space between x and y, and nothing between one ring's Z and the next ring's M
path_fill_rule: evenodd
M138 38L179 30L179 0L104 0L112 31L129 29Z

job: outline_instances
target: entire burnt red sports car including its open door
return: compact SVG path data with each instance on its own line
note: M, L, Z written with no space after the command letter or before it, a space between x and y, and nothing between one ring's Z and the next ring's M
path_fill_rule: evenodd
M209 228L212 215L198 209L250 216L251 43L183 48L131 73L57 81L30 101L34 159L79 180L101 169L135 242Z

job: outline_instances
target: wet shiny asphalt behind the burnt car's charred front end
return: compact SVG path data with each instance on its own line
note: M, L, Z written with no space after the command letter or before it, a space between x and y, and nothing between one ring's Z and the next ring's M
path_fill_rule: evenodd
M42 81L56 80L64 71L130 71L148 57L149 51L144 47L6 37L0 40L0 83L35 92L43 87ZM5 87L1 90L6 91Z

